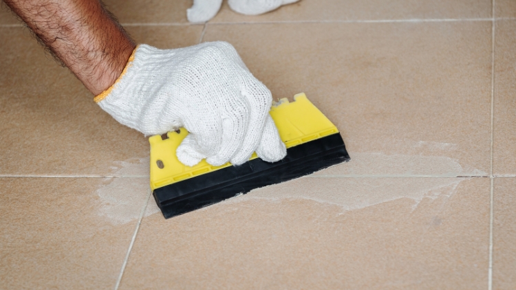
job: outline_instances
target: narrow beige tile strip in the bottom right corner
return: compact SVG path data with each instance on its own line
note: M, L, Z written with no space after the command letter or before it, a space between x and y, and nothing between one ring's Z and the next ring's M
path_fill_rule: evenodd
M516 179L495 179L493 289L516 289Z

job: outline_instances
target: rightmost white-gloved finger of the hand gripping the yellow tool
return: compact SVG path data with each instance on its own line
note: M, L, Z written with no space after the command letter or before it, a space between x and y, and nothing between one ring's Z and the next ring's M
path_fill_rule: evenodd
M270 118L270 115L266 120L264 134L261 136L256 154L258 157L268 162L279 161L287 155L287 148L283 141L281 141L278 129L272 118Z

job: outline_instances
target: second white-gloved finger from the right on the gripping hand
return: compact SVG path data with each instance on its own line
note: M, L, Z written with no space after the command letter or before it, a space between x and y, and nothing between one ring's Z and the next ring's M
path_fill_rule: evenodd
M248 161L255 152L261 140L265 120L269 116L272 96L264 84L252 77L252 83L242 92L251 108L249 114L249 125L247 127L244 141L238 153L231 158L231 163L238 165Z

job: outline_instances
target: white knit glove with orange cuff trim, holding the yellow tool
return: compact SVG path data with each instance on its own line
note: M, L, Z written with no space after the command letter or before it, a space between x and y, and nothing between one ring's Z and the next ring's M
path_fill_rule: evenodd
M140 45L120 78L95 100L145 135L184 126L190 134L176 153L187 166L204 158L214 166L243 164L254 151L270 162L286 155L268 113L270 91L229 43L167 50Z

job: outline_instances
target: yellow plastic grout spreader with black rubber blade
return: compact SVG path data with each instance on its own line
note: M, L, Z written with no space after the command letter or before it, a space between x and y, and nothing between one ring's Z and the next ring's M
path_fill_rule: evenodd
M341 135L306 98L294 96L294 102L281 99L270 111L287 156L268 163L255 154L241 166L211 166L205 160L196 166L184 166L175 150L188 132L169 132L167 137L153 136L151 143L151 188L166 219L191 212L255 188L270 186L350 160Z

